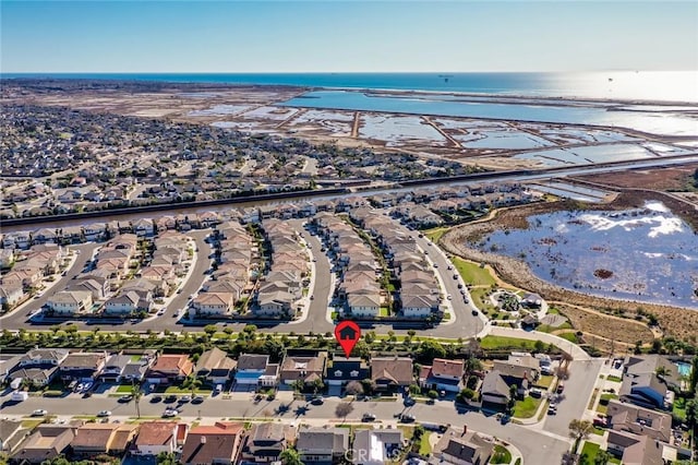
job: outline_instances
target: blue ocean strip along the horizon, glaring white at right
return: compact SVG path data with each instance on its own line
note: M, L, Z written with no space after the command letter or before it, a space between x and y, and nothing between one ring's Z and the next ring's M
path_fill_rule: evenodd
M698 103L696 71L588 73L4 73L0 79L59 78L402 90L541 97Z

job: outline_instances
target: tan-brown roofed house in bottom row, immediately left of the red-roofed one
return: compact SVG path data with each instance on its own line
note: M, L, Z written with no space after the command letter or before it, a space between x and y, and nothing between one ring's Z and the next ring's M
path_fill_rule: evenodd
M139 425L85 424L77 428L70 445L79 456L121 454L131 445L137 432Z

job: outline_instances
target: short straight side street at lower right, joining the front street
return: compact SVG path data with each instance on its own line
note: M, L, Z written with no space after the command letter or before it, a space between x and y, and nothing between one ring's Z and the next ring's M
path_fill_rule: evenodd
M599 379L603 359L575 360L569 365L569 380L565 381L563 400L557 405L557 415L545 418L543 430L567 434L569 421L585 417L593 386Z

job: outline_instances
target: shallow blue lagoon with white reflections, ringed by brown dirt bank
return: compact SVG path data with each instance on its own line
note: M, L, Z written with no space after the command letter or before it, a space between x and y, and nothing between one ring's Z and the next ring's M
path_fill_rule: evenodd
M568 289L698 309L696 233L663 204L621 212L555 212L474 247L524 260ZM609 273L610 272L610 275Z

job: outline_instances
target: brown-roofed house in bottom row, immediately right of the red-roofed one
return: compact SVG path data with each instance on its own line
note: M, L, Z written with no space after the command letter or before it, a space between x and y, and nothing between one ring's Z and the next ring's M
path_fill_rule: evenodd
M238 462L244 426L217 421L197 426L186 434L179 463L183 465L232 465Z

